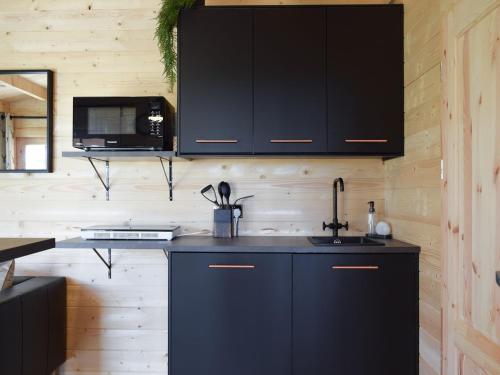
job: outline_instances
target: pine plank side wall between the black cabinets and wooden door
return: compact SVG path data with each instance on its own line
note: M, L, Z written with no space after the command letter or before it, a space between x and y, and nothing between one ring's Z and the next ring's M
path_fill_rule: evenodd
M443 15L453 0L404 0L405 156L385 163L396 238L421 246L420 374L441 372L441 98Z

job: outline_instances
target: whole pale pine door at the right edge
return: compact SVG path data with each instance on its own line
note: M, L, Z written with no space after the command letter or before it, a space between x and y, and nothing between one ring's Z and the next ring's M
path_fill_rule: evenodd
M446 18L443 373L500 374L500 1Z

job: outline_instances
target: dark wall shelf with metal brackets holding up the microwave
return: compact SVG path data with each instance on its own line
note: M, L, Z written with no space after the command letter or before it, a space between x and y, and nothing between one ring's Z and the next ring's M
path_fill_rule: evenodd
M103 151L63 151L63 158L84 158L87 159L94 169L97 177L101 181L104 190L106 190L106 200L109 201L109 162L111 160L127 160L127 161L139 161L139 160L154 160L158 159L160 161L163 173L168 184L169 199L173 200L173 183L172 183L172 160L177 157L175 151L116 151L116 150L103 150ZM104 162L104 177L101 176L99 170L97 169L94 161ZM165 167L164 162L168 162L168 171Z

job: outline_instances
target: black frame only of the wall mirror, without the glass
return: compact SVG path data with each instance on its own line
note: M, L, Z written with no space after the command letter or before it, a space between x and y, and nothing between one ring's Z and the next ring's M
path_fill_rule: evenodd
M0 74L47 74L47 168L45 169L3 169L0 173L52 173L53 172L53 109L54 109L54 72L48 69L0 70Z

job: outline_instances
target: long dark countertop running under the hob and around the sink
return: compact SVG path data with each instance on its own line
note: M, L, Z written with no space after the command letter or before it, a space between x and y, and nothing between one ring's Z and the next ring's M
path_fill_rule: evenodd
M314 246L307 237L299 236L242 236L213 238L210 236L184 236L173 241L148 240L85 240L71 238L56 243L57 248L95 249L164 249L169 252L201 253L419 253L420 248L398 240L377 240L385 246Z

